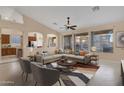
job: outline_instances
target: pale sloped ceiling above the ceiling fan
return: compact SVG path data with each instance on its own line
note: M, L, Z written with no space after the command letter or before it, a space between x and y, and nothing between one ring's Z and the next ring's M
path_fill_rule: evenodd
M78 26L77 29L124 20L123 6L100 6L98 11L93 11L93 6L16 6L12 8L58 32L64 31L60 27L66 24L67 17L71 18L72 25Z

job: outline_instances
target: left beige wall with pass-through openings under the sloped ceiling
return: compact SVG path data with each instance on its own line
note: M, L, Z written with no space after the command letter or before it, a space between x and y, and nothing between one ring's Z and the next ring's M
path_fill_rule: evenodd
M28 32L41 32L43 34L43 38L44 38L44 46L43 48L38 48L38 49L34 49L34 52L37 51L42 51L42 50L48 50L50 53L53 53L54 50L56 48L58 48L58 42L57 42L57 46L54 48L48 48L47 47L47 34L55 34L57 36L57 40L58 40L58 35L59 33L42 25L39 24L38 22L34 21L33 19L24 16L24 24L18 24L18 23L12 23L12 22L8 22L8 21L3 21L0 20L0 29L2 28L7 28L7 29L15 29L15 30L19 30L23 32L23 55L24 57L28 56L30 53L30 49L27 47L28 44ZM0 44L1 46L1 44ZM1 51L1 50L0 50ZM1 53L1 52L0 52Z

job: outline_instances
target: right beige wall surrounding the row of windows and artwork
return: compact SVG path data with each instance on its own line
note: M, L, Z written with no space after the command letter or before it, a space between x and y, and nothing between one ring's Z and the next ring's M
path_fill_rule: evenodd
M65 32L62 34L62 36L67 35L67 34L76 34L76 33L83 33L83 32L88 32L90 35L92 31L100 31L100 30L108 30L108 29L113 29L113 32L114 32L114 35L113 35L114 52L113 53L99 53L99 56L101 59L109 59L109 60L118 60L119 61L121 58L124 58L124 48L116 47L116 32L124 31L124 22L115 22L115 23L110 23L110 24L105 24L105 25L100 25L100 26L81 28L77 31ZM61 43L61 46L63 46L62 43Z

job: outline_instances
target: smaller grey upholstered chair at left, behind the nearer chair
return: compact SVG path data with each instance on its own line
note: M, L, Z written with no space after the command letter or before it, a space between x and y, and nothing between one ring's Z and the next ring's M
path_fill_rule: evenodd
M20 63L20 66L21 66L21 69L22 69L22 77L24 75L24 73L26 74L26 79L25 81L27 81L28 79L28 74L30 74L32 71L31 71L31 65L30 65L30 61L29 60L26 60L26 59L23 59L23 58L20 58L19 59L19 63Z

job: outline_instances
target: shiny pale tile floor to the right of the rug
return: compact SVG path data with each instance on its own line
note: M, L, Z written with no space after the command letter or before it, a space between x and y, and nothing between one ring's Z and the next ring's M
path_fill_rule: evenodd
M121 86L120 61L100 60L100 68L93 79L88 83L90 86Z

